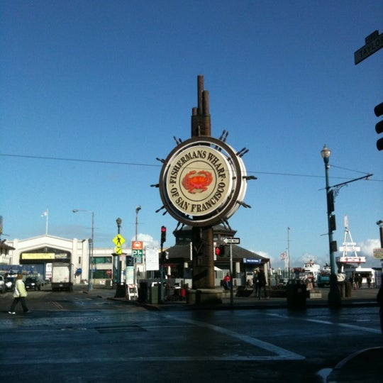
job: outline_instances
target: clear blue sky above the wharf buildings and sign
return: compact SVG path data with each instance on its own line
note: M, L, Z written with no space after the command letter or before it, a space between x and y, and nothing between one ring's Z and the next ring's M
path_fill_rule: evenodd
M324 165L330 184L373 173L335 200L343 242L369 264L383 219L383 161L374 106L382 102L383 50L354 52L383 32L382 1L1 1L3 238L48 233L111 247L116 218L127 243L150 245L177 222L162 206L161 163L173 136L190 137L196 77L210 94L211 134L249 152L245 202L229 220L241 246L291 266L328 262ZM67 159L52 160L49 158ZM7 235L7 236L6 236Z

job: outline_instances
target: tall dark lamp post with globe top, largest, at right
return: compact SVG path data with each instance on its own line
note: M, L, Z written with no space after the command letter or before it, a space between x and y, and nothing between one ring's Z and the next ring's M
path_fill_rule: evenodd
M332 219L332 209L331 205L333 204L330 200L332 197L331 187L328 182L328 169L330 165L328 165L328 160L331 155L331 150L327 148L326 145L323 146L321 150L321 156L323 158L323 162L325 164L325 174L326 174L326 201L327 201L327 223L328 223L328 248L330 251L330 292L328 293L328 304L333 307L340 306L340 292L338 289L337 277L335 274L335 256L334 256L334 247L336 246L333 243L333 226L331 224Z

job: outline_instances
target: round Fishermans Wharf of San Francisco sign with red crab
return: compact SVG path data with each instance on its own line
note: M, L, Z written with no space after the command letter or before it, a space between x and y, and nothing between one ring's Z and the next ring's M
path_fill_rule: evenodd
M177 221L190 226L216 225L242 204L245 165L223 140L190 138L164 161L159 187L165 208Z

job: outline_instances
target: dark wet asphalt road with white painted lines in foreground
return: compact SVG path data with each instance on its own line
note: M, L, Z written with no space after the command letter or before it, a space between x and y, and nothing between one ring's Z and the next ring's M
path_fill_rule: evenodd
M326 382L341 360L382 346L374 306L152 311L87 294L0 295L0 382ZM375 382L370 357L355 382ZM360 373L360 380L357 374ZM381 382L381 374L376 377Z

